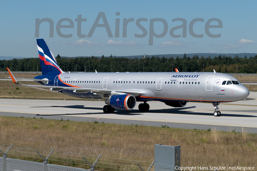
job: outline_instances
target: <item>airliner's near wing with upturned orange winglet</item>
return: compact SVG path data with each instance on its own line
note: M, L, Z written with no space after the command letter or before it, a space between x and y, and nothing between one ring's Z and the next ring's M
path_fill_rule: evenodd
M40 88L50 88L53 91L61 91L62 89L69 89L69 90L74 90L74 92L76 93L88 93L91 92L92 93L99 93L99 94L105 94L105 93L109 93L111 94L111 92L121 92L121 93L128 93L131 95L135 95L138 96L140 95L139 91L130 91L130 90L111 90L111 89L93 89L93 88L81 88L81 87L61 87L61 86L42 86L42 85L28 85L28 84L20 84L14 76L13 73L9 70L9 68L7 68L10 76L11 76L11 80L13 81L14 84L16 85L20 85L20 86L26 86L26 87L40 87ZM24 80L26 80L26 78L24 78ZM31 79L33 81L41 81L41 82L45 82L48 80L40 80L40 79Z

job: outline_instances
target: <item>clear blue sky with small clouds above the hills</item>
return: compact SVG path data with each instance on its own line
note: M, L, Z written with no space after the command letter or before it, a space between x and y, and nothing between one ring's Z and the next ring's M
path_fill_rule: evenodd
M183 53L256 53L257 54L257 1L4 1L1 2L0 16L0 56L38 57L36 39L43 38L54 56L130 56L142 54L183 54ZM78 15L86 18L82 22L81 34L88 36L97 16L104 12L113 37L109 37L105 27L96 27L91 37L80 38L77 35ZM120 12L116 16L116 12ZM54 22L53 37L49 37L49 23L42 22L39 37L35 37L36 18L50 18ZM74 28L61 28L62 34L72 34L63 38L57 34L57 22L68 18ZM119 37L115 37L115 21L120 19ZM123 37L123 19L133 18L127 25L127 37ZM147 30L146 36L137 38L134 34L143 31L136 26L136 20L146 18L140 24ZM163 37L153 36L153 45L149 46L150 19L161 18L168 24ZM170 29L186 20L186 37L170 36ZM204 22L195 22L195 34L189 32L193 19L202 18ZM217 18L222 28L210 28L211 34L221 34L211 38L205 32L209 19ZM98 24L103 24L102 18ZM61 25L69 25L64 21ZM213 21L210 25L218 25ZM164 31L160 21L154 22L156 34ZM152 32L151 32L152 33ZM182 28L174 31L182 34Z

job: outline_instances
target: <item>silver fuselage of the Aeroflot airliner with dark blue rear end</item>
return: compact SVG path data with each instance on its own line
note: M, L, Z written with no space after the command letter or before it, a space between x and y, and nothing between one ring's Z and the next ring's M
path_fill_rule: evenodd
M43 78L44 75L35 77ZM81 93L74 92L72 87L139 91L136 101L230 102L249 95L248 89L236 78L212 72L63 73L47 78L51 80L47 85L71 87L60 92L81 98L108 99L110 92Z

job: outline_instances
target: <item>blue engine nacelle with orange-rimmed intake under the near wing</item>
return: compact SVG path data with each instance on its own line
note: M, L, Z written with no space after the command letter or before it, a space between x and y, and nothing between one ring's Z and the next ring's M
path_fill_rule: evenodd
M136 98L130 94L113 95L105 103L115 109L132 110L136 106Z

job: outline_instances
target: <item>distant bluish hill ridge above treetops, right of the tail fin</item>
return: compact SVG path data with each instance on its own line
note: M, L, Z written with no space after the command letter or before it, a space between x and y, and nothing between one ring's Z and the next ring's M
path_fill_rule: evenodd
M257 53L238 53L238 54L234 54L234 53L227 53L227 54L221 54L221 53L190 53L190 54L186 54L186 56L188 57L192 57L193 55L198 55L199 58L201 58L202 56L204 58L208 58L210 55L210 58L214 58L215 56L231 56L232 58L234 58L236 55L239 56L240 58L244 58L244 56L247 56L247 58L249 58L250 56L254 57L255 55L257 55ZM166 58L170 58L170 57L174 57L176 58L177 56L179 58L183 58L184 54L160 54L160 55L145 55L145 57L152 57L152 56L159 56L160 58L162 56L166 57ZM82 58L82 57L89 57L89 56L76 56L76 57L67 57L67 56L61 56L62 58ZM91 57L91 56L90 56ZM101 58L102 56L96 56L97 58ZM105 57L109 57L109 56L105 56ZM114 57L114 56L113 56ZM116 56L116 58L143 58L143 55L135 55L135 56Z

